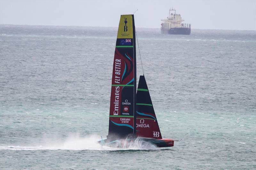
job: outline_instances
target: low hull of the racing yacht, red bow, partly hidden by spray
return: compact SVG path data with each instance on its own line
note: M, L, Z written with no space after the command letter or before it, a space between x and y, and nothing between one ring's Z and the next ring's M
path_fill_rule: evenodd
M134 139L119 139L109 142L107 139L102 139L98 143L102 146L108 146L113 148L127 148L134 141L138 141L142 146L154 145L157 148L172 147L174 140L172 139L155 139L155 138L134 138Z

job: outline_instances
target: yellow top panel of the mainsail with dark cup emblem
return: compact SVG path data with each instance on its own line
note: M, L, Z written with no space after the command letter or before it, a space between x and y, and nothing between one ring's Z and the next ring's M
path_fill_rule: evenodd
M121 15L117 38L133 38L132 15Z

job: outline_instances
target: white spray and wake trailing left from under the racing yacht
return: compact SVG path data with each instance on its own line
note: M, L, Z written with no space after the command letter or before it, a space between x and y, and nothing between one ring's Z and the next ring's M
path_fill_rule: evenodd
M22 145L1 145L0 150L151 150L156 149L154 145L145 144L142 141L134 140L124 141L123 148L113 148L108 146L101 146L98 141L100 137L97 135L90 135L86 137L79 137L79 135L70 135L66 139L42 139L43 144L31 144L31 146Z

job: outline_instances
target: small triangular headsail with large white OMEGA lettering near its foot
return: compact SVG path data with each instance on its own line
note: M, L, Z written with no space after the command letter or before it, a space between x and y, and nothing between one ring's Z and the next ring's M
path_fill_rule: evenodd
M162 138L144 75L137 89L136 137Z

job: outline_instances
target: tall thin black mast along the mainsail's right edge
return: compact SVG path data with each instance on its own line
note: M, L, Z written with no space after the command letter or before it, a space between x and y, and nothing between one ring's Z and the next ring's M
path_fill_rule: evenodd
M137 103L136 103L136 93L137 93L137 78L136 78L136 31L135 31L135 24L134 24L134 15L132 14L132 26L133 26L133 60L134 60L134 91L133 91L133 99L134 99L134 103L133 103L133 134L135 136L136 134L136 111L137 111Z

